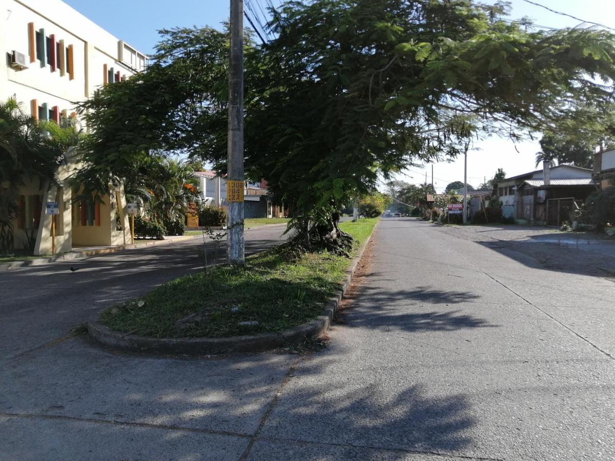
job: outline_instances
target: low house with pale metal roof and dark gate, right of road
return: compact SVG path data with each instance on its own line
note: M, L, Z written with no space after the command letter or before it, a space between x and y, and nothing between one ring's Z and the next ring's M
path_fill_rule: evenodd
M498 181L502 214L518 224L561 226L598 189L592 170L572 165L545 165L542 170Z

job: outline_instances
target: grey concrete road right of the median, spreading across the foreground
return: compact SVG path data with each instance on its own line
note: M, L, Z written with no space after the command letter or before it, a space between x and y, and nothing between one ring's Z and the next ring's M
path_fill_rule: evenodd
M372 250L321 352L4 361L0 459L615 459L613 279L413 219Z

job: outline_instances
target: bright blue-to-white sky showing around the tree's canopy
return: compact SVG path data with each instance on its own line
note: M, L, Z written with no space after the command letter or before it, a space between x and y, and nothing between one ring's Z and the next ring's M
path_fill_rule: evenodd
M227 20L229 0L64 0L93 22L108 30L121 40L144 53L150 53L157 42L157 30L175 26L214 26ZM483 0L493 3L494 0ZM536 0L544 6L566 12L586 21L603 23L615 28L615 0ZM280 0L273 0L279 4ZM261 4L265 4L261 0ZM553 28L576 26L579 21L549 12L524 0L512 0L511 18L529 16L534 23ZM468 182L474 186L483 178L491 178L498 168L504 168L509 176L534 169L534 154L539 151L538 142L527 141L515 146L506 139L490 138L475 144L477 150L470 152ZM518 152L517 152L518 151ZM421 183L425 171L431 179L431 165L425 170L413 168L399 175L409 183ZM412 176L410 178L410 176ZM463 159L434 165L434 181L438 191L446 184L463 179Z

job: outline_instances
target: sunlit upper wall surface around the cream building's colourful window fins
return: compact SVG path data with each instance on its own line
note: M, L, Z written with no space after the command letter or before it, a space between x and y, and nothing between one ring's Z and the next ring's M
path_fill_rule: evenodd
M30 56L28 23L34 30L44 29L64 46L73 45L74 78ZM36 49L36 47L35 47ZM0 0L0 101L15 96L23 111L31 114L31 100L49 109L58 106L68 114L73 102L90 97L103 84L103 66L131 76L135 71L119 61L119 39L60 0ZM26 57L27 69L9 66L7 53L16 50Z

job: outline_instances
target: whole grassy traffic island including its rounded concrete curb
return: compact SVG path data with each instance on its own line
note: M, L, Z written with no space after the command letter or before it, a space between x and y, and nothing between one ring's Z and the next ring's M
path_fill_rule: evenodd
M280 245L172 280L113 305L88 323L90 337L133 352L207 355L298 345L326 331L378 219L341 223L352 259Z

